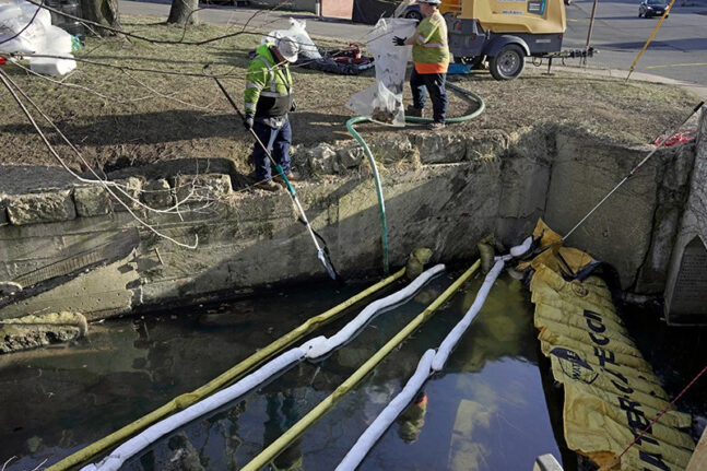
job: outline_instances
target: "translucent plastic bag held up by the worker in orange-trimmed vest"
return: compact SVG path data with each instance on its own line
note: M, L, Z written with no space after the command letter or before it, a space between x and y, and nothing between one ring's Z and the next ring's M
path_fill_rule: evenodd
M412 36L416 25L415 20L378 20L366 42L375 57L376 84L352 96L346 103L349 109L382 125L405 126L402 90L412 46L394 46L392 38Z

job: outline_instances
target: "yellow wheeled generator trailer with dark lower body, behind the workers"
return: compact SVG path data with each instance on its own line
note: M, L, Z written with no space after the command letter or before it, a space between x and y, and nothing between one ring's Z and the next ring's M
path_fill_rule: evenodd
M518 76L526 57L561 52L564 0L443 0L439 10L447 20L455 60L474 64L488 60L496 80ZM396 16L422 17L420 7L410 0L400 4Z

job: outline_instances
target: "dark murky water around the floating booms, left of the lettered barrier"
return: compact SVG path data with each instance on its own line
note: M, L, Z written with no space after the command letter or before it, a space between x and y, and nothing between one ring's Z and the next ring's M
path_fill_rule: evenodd
M274 440L451 282L444 274L376 318L320 364L303 363L258 391L164 437L126 470L235 470ZM473 302L481 276L457 295L331 412L275 460L276 469L332 470ZM394 286L391 290L397 290ZM361 286L297 290L266 298L94 325L78 344L0 357L0 460L8 470L51 464L201 386ZM390 291L390 290L389 290ZM559 456L532 305L502 276L470 331L361 469L523 470ZM315 334L330 334L363 305ZM229 326L203 326L199 315ZM559 404L552 404L558 408ZM558 429L558 424L555 424Z

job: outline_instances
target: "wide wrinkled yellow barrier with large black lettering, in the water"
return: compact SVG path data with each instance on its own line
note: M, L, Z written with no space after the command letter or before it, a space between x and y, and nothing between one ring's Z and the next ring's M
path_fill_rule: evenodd
M692 417L664 412L669 396L631 339L606 283L596 275L569 275L596 261L563 247L563 237L542 220L533 238L544 251L518 268L534 270L534 325L540 350L563 385L567 447L601 470L685 469L695 447L685 433Z

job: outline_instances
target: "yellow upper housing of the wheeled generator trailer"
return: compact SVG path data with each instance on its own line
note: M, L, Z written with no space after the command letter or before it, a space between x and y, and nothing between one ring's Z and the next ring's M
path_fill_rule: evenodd
M492 33L564 33L567 26L563 0L460 0L461 9L443 2L443 13L458 13L461 20L476 20L484 31Z

